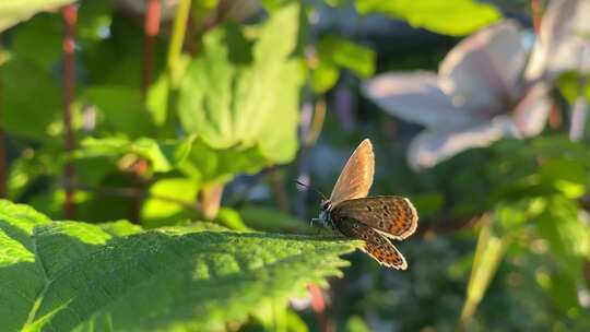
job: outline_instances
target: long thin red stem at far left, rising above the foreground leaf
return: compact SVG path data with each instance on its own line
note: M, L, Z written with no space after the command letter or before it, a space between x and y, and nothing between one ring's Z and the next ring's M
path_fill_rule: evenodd
M63 128L66 130L64 150L66 154L74 150L75 140L72 128L72 104L75 95L75 44L74 44L74 26L78 20L78 12L74 4L64 5L61 9L63 24L66 27L63 34ZM72 162L66 164L64 169L66 182L74 181L75 169ZM75 206L73 200L73 190L70 186L66 186L66 203L63 205L63 214L67 218L73 218Z

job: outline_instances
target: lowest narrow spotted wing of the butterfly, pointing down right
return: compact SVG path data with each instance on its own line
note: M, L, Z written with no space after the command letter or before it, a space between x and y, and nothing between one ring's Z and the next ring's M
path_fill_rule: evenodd
M398 248L377 230L351 217L342 217L334 224L345 236L364 240L363 251L379 264L397 270L408 269L408 263Z

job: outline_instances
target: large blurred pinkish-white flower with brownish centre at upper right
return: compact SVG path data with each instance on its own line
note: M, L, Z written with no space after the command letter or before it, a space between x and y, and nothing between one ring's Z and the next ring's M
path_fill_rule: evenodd
M557 55L579 49L580 26L586 23L578 10L589 3L552 1L529 63L518 27L505 21L459 43L440 63L438 74L386 73L365 82L363 93L385 111L426 127L409 147L409 163L415 170L468 149L488 146L503 137L536 135L551 110L551 78L579 68L579 59L569 63L554 52L557 48L566 49ZM566 10L575 13L574 20L562 16L560 11ZM567 22L579 23L577 35ZM578 42L566 40L573 36Z

